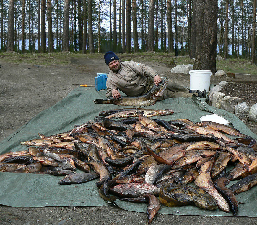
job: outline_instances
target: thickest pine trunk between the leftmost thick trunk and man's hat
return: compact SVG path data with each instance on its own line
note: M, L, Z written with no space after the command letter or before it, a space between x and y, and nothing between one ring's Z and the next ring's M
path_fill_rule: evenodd
M62 41L62 50L64 52L68 52L70 50L69 11L70 11L70 0L64 0L63 41Z

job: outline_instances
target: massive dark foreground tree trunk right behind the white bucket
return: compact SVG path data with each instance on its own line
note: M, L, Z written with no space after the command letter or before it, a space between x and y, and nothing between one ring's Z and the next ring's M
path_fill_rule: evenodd
M218 1L197 0L196 15L196 21L200 26L196 26L196 38L199 40L196 41L196 58L193 68L211 70L212 73L216 73Z

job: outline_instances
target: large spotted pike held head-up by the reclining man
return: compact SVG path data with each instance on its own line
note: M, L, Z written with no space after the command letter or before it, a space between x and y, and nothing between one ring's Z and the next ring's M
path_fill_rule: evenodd
M139 97L110 98L110 99L94 99L96 104L114 104L119 106L150 106L155 104L157 98L162 96L167 87L168 79L164 78L162 82L156 86L154 85L147 93Z

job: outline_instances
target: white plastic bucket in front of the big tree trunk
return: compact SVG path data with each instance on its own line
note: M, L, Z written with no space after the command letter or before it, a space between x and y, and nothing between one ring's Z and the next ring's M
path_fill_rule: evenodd
M211 70L190 70L190 90L210 91Z

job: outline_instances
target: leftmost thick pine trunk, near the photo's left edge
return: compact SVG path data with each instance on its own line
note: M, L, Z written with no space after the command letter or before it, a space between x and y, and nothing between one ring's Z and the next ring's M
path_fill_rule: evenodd
M9 17L7 31L7 51L14 51L14 0L9 0Z

